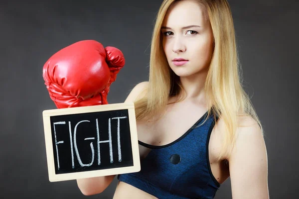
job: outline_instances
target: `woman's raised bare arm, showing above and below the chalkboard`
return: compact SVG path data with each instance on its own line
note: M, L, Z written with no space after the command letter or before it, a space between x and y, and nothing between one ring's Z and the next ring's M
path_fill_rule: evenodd
M147 85L148 82L142 82L136 85L125 102L134 101ZM115 176L116 175L77 179L77 185L83 195L95 195L102 193L111 184Z

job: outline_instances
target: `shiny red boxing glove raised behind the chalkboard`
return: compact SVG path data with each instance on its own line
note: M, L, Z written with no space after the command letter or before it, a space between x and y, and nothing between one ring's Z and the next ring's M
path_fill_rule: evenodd
M108 104L110 85L124 65L119 49L84 40L52 55L43 79L57 108Z

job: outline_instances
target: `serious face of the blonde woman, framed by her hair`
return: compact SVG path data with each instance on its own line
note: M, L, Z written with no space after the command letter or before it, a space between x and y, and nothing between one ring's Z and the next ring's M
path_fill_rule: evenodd
M177 76L188 77L207 69L213 53L213 33L197 2L182 0L169 7L161 32L168 64Z

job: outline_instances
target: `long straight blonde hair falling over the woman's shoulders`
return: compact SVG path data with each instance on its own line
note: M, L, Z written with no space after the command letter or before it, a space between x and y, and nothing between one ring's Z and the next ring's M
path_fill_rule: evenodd
M137 120L152 119L164 110L169 97L177 96L182 91L178 78L167 63L160 32L164 16L175 1L178 0L163 0L156 16L151 41L149 85L147 95L135 101ZM264 133L250 98L242 88L234 24L227 0L196 1L206 12L214 37L214 51L204 89L208 104L206 119L213 112L214 118L221 117L225 124L223 148L218 157L221 160L229 157L235 146L238 116L251 116L260 125L262 134Z

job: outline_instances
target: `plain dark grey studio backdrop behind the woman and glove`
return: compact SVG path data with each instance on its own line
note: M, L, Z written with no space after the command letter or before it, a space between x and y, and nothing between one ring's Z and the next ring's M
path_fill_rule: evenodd
M111 199L117 179L85 197L76 181L50 183L42 111L55 109L42 78L47 59L74 42L94 39L122 50L126 65L109 103L123 102L148 80L150 39L162 0L0 1L0 198ZM229 0L244 89L265 128L271 199L298 193L297 0ZM228 179L216 199L230 199Z

